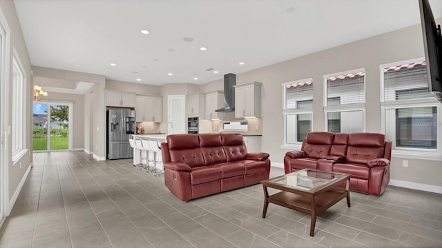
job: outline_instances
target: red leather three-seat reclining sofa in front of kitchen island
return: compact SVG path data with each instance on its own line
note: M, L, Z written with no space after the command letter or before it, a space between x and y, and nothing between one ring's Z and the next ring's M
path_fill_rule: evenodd
M247 153L241 134L172 134L161 149L164 183L181 200L269 178L269 154Z

